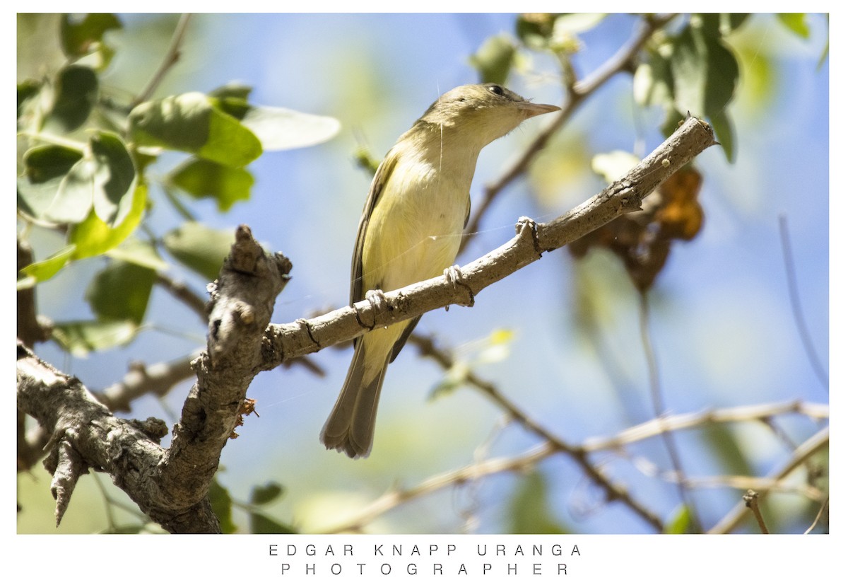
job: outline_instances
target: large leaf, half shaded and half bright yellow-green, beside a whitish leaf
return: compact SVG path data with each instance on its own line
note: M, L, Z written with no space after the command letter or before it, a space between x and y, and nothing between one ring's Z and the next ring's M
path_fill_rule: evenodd
M246 166L262 154L253 132L215 107L203 93L183 93L139 104L130 112L133 138L147 146L182 150L226 166Z

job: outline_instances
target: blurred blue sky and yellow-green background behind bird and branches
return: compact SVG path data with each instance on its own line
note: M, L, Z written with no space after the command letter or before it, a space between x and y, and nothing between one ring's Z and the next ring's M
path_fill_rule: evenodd
M138 91L165 53L176 15L120 16L114 35L118 53L104 82ZM635 19L612 15L581 40L574 58L578 75L600 65L633 33ZM180 63L158 95L210 91L237 80L254 87L251 101L332 115L342 132L309 149L271 152L255 161L252 199L227 214L211 202L195 209L219 228L246 223L254 236L293 262L293 280L276 304L274 321L287 323L343 306L349 295L349 262L370 177L356 166L360 146L379 159L412 121L457 85L476 82L468 62L485 39L512 34L514 14L220 14L191 22ZM667 408L686 413L705 408L801 399L828 402L828 388L812 370L789 305L778 214L791 235L797 284L812 345L828 367L828 67L819 59L828 21L808 19L803 40L768 14L758 14L733 37L742 76L731 107L737 158L708 149L696 164L704 175L700 203L703 231L672 250L651 291L650 331L660 365ZM20 75L20 71L19 71ZM527 53L510 88L542 103L563 95L555 63ZM696 112L693 112L696 113ZM629 76L618 76L578 110L537 161L529 177L512 183L488 212L480 233L458 259L469 262L514 233L517 217L556 217L604 186L590 169L594 154L615 149L644 155L661 142L658 110L633 102ZM484 183L499 177L544 116L483 150L471 188L475 205ZM160 161L165 173L180 157ZM159 167L157 167L159 168ZM159 233L179 218L156 189L151 217ZM35 241L43 257L59 243L46 234ZM39 290L39 307L58 318L90 315L80 283L100 265L78 262ZM204 282L185 275L204 290ZM53 346L39 354L75 374L92 389L126 373L132 360L157 363L204 342L204 324L157 291L150 327L126 348L69 358ZM639 297L622 268L602 253L574 262L566 250L544 258L477 297L471 309L453 307L422 318L418 332L455 348L477 374L569 442L605 436L653 418L648 372L639 338ZM508 340L494 344L492 335ZM274 480L287 490L271 509L276 518L310 532L355 514L383 492L472 463L477 457L519 453L538 438L509 425L479 394L460 388L433 398L444 379L435 363L407 347L389 369L382 392L371 458L350 461L329 453L318 432L347 370L351 349L330 348L314 356L326 371L279 368L260 374L248 391L260 418L250 417L223 453L220 483L233 498L247 500L251 487ZM188 385L159 402L138 401L134 418L157 416L169 426ZM801 417L782 421L801 442L814 432ZM756 425L729 429L758 473L779 461L785 447ZM692 476L722 474L726 460L707 433L678 436L684 467ZM640 445L637 458L667 469L658 441ZM616 479L639 486L638 496L664 518L678 506L669 482L646 481L622 458L607 468ZM511 532L521 516L522 490L543 494L550 520L577 532L645 532L642 520L619 504L605 504L577 466L550 458L538 474L504 474L452 487L406 503L376 520L372 532ZM122 494L99 482L111 498ZM19 478L19 532L53 532L49 478L43 470ZM92 477L81 480L61 532L103 528L107 505ZM736 501L739 490L695 492L707 526ZM785 498L784 505L803 506ZM109 507L109 513L124 514ZM787 515L787 517L797 517ZM243 521L243 516L236 516ZM773 532L803 532L800 524ZM806 520L805 520L806 522Z

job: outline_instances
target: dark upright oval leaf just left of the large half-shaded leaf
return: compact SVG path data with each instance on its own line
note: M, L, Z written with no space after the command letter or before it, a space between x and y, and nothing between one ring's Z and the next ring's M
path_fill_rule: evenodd
M98 99L98 76L89 67L69 65L59 71L54 87L53 107L47 113L44 129L63 134L81 127Z

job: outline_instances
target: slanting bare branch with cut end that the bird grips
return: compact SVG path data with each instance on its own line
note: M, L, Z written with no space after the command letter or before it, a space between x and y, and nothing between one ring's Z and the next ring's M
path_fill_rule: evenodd
M365 300L319 317L271 325L265 331L261 367L276 368L285 360L317 352L371 329L415 318L433 309L449 305L471 306L474 297L489 284L537 261L544 252L561 248L624 213L638 211L644 197L713 144L716 141L711 127L689 117L625 177L572 211L547 223L537 224L522 217L516 224L515 238L461 268L459 285L451 284L444 277L431 278L385 293L386 302L379 311Z

